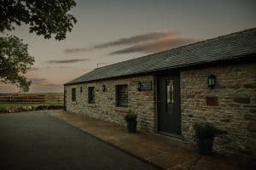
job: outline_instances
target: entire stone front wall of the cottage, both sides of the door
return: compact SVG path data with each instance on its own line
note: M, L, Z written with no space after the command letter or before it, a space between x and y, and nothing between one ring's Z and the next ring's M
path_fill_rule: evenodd
M195 143L193 124L211 122L228 134L215 139L214 150L224 154L256 157L256 65L233 64L180 71L182 136ZM207 87L207 77L215 75L216 87ZM137 91L137 82L152 81L153 90ZM105 84L107 91L102 92ZM115 106L115 85L128 84L128 108ZM88 87L96 87L96 104L88 104ZM79 89L83 87L83 92ZM71 101L77 88L77 101ZM125 126L127 112L138 115L138 130L156 132L157 112L154 76L67 86L67 111L96 117Z

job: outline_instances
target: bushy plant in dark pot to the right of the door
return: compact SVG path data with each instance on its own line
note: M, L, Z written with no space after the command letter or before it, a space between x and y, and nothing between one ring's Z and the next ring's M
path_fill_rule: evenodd
M211 123L201 122L194 124L196 145L201 155L210 155L212 153L212 144L214 137L222 131L214 127Z

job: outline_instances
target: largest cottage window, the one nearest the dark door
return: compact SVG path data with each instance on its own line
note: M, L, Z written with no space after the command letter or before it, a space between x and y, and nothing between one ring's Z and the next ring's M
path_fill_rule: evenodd
M115 87L116 106L128 107L128 85L117 85Z

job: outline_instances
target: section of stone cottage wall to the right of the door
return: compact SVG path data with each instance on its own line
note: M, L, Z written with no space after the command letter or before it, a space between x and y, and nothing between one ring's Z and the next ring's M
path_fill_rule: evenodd
M215 75L216 88L207 87ZM228 132L214 150L256 156L256 65L236 64L181 71L182 134L193 142L193 123L212 122Z

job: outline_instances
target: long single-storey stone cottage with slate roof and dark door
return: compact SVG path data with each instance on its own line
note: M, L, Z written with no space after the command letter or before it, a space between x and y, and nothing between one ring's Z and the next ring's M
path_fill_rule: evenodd
M256 156L256 28L103 66L64 85L65 110L194 142L194 122L227 134L214 150Z

